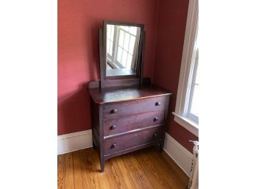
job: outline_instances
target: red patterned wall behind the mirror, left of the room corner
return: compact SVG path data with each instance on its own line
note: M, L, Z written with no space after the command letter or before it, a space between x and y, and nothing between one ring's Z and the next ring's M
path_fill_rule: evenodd
M90 129L88 82L99 79L103 20L145 24L144 76L154 75L157 0L58 0L58 135Z

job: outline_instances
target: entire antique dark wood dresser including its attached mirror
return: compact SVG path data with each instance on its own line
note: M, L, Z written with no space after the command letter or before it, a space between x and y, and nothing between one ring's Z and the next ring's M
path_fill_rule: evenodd
M171 93L143 78L144 39L143 24L104 21L99 29L101 79L88 90L102 172L111 157L152 145L163 151Z

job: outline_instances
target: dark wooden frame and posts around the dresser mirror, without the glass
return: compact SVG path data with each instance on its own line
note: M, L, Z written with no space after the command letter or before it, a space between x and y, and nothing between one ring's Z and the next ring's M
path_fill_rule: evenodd
M136 26L141 28L135 75L106 76L107 24L120 25L120 26ZM144 31L143 24L131 24L131 23L118 22L118 21L103 21L103 29L102 28L99 29L100 88L142 85L144 48L145 48L145 31Z

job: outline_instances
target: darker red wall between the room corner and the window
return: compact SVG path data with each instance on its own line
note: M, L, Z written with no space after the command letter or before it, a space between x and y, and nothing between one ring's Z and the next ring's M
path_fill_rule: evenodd
M177 124L171 114L176 105L187 14L188 0L160 0L153 83L173 93L168 111L167 132L182 146L192 151L193 144L188 140L198 138Z

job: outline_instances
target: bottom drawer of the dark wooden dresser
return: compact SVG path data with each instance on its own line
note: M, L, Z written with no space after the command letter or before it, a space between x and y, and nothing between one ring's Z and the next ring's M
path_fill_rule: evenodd
M157 126L129 135L108 138L104 140L104 154L113 154L118 151L135 148L136 146L160 140L162 129L163 126Z

